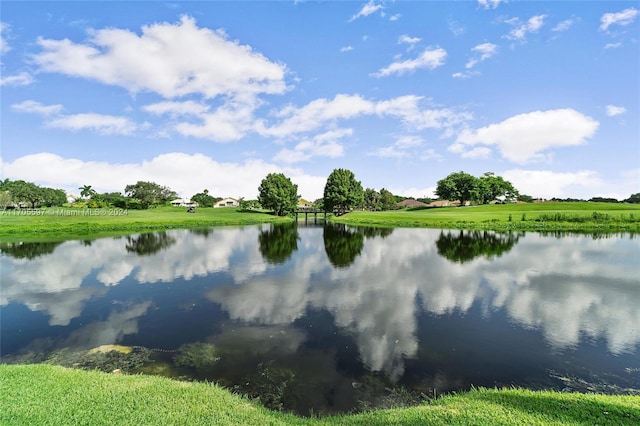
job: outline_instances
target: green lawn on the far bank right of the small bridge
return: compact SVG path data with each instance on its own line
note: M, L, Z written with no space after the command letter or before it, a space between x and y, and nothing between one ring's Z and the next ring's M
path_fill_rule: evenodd
M640 205L591 202L354 211L332 221L350 225L456 229L640 231Z

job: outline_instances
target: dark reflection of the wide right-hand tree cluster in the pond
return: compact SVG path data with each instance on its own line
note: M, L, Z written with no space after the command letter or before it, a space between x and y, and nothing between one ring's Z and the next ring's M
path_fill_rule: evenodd
M436 247L438 254L453 262L468 262L478 256L501 256L515 246L520 234L488 231L441 232Z

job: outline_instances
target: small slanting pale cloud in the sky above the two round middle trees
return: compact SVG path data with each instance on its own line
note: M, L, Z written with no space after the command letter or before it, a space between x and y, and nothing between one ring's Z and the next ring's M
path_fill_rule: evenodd
M283 149L273 158L277 163L293 164L309 161L313 157L337 158L344 155L344 147L338 141L353 133L352 129L332 130L305 139L293 149Z

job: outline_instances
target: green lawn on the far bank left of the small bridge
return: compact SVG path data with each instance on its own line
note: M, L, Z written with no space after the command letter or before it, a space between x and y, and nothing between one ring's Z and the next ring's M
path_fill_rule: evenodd
M162 229L201 228L287 222L265 211L184 207L148 210L49 208L33 212L0 212L0 241L80 239Z

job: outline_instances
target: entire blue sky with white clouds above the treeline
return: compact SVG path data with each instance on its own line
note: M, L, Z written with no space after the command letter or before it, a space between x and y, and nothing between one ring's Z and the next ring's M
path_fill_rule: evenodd
M256 198L640 191L638 1L3 1L1 176Z

